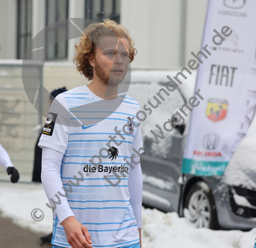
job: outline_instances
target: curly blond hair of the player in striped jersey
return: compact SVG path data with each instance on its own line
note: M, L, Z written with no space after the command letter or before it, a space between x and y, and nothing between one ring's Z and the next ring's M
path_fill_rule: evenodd
M119 38L125 38L129 44L129 62L134 60L134 56L137 54L137 49L134 48L134 40L131 39L130 32L127 28L117 24L110 19L104 19L102 23L96 22L90 24L84 30L84 36L81 36L78 45L75 44L75 59L73 62L80 74L84 74L88 80L93 79L93 66L89 63L90 54L95 55L96 42L102 36L118 36Z

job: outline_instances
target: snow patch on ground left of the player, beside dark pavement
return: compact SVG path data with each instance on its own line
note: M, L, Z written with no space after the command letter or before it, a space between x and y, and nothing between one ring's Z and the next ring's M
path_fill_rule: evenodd
M3 217L10 217L13 223L30 229L33 232L51 232L52 210L46 193L41 184L0 182L0 213ZM41 209L44 218L35 221L31 217L33 209ZM36 216L40 216L37 212Z

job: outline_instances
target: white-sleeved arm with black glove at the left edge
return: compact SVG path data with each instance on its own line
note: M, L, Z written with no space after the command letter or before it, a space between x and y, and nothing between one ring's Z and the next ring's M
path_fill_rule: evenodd
M19 181L19 172L14 168L13 163L10 161L10 156L7 151L4 150L4 147L0 144L0 164L4 166L8 175L11 175L10 182L18 182Z

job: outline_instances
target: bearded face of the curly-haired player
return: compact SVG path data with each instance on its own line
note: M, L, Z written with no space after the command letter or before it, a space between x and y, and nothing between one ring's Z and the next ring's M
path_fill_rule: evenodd
M95 73L105 84L121 83L129 63L129 44L125 38L104 36L96 46Z

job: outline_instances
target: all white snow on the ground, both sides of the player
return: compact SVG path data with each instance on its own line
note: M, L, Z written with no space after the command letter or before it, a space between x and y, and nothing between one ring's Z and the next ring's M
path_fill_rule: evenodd
M0 182L1 216L34 232L51 232L52 212L42 185ZM44 212L42 221L31 217L33 209ZM196 229L177 213L143 209L144 248L253 248L256 228L250 232Z

